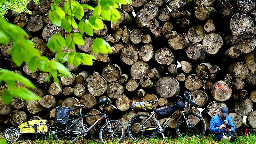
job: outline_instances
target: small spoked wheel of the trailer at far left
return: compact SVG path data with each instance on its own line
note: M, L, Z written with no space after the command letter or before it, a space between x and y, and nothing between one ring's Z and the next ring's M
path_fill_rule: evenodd
M20 140L19 132L18 129L10 127L4 131L4 139L8 142L18 141Z

